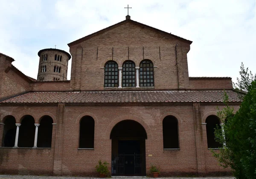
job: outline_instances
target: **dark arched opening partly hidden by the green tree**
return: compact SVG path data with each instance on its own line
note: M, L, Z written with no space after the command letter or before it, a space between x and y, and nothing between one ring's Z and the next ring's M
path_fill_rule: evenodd
M217 116L210 115L206 118L206 133L207 133L207 145L208 148L219 148L222 145L215 141L214 131L215 128L221 128L220 122Z

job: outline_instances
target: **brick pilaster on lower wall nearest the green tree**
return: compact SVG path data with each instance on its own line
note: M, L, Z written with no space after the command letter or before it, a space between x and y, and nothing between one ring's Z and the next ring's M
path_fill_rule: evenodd
M198 175L204 176L205 170L205 156L204 156L204 137L201 120L200 103L193 103L194 111L194 127L195 127L195 148L197 158Z

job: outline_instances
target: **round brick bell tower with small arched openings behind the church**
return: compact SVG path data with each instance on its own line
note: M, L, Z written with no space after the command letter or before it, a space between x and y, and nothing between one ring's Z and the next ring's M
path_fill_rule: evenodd
M71 55L64 50L45 48L38 51L38 81L67 80L68 60Z

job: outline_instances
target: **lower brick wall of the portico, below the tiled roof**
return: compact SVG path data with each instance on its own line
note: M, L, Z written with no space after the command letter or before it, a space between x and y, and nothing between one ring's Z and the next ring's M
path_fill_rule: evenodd
M30 114L37 123L50 115L57 125L53 128L51 149L0 148L0 172L96 176L99 159L111 163L112 128L120 121L132 119L145 128L146 171L150 163L160 167L162 176L201 175L229 172L221 168L207 148L205 125L207 114L215 114L217 105L26 105L3 106L1 119L13 115L17 122ZM239 108L239 106L235 106ZM6 113L12 111L12 113ZM198 111L198 112L197 112ZM94 149L79 150L79 122L85 116L95 120ZM163 150L162 120L173 115L178 120L180 150ZM197 117L195 117L195 115ZM1 133L3 131L0 131ZM56 146L56 147L55 147ZM152 154L152 157L148 155ZM109 165L109 169L110 165Z

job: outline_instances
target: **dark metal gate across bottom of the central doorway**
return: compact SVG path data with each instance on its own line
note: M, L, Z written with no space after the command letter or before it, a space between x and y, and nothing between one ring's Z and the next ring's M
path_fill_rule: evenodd
M128 168L128 161L132 162L132 170L131 165ZM118 154L112 155L111 161L111 175L112 176L123 176L123 175L134 175L140 176L142 175L142 164L143 164L143 156L140 154ZM125 170L126 169L126 170Z

